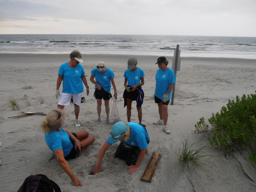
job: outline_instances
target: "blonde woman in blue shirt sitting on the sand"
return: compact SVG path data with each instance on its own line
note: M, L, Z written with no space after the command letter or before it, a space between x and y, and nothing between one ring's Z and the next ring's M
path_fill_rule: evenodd
M46 120L41 123L41 127L47 146L55 153L58 162L70 176L72 184L78 186L82 183L70 169L67 160L77 158L95 139L88 137L89 133L86 130L70 133L62 128L65 116L64 110L51 110Z

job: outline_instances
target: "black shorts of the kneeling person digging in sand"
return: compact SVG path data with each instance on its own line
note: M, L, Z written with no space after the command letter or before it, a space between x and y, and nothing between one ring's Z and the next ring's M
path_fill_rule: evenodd
M128 166L135 165L140 154L140 148L137 146L126 145L124 142L120 142L116 152L115 158L125 160Z

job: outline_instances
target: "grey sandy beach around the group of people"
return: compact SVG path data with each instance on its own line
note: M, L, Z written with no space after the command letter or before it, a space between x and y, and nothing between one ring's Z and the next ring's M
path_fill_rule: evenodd
M133 55L132 55L133 56ZM101 163L102 172L91 175L98 152L109 136L113 124L107 124L104 105L102 121L96 122L96 100L93 97L94 84L89 80L91 70L98 61L104 61L115 74L118 89L118 110L122 121L126 122L126 108L123 108L124 71L130 55L84 54L82 66L90 86L90 94L83 96L86 102L80 106L81 126L74 125L74 106L65 107L68 114L63 128L72 132L88 130L95 142L75 160L69 160L70 168L81 180L83 186L72 186L56 158L44 140L40 122L45 116L33 115L25 118L8 118L22 112L48 113L56 108L55 98L58 69L69 61L68 54L0 54L0 186L1 191L16 192L27 176L45 174L54 180L63 192L253 192L256 191L256 165L248 160L248 151L235 152L224 156L215 150L207 140L212 133L194 133L194 124L204 116L207 120L212 113L219 112L229 99L236 95L252 94L256 90L256 60L238 58L182 57L180 71L176 76L174 105L168 106L168 127L171 134L165 134L162 126L152 122L158 120L158 107L154 103L155 74L158 56L136 56L138 67L144 70L145 93L142 105L142 122L150 134L148 153L134 174L127 174L125 162L115 159L114 152L119 144L114 144L106 152ZM167 57L169 67L172 57ZM60 91L62 90L62 86ZM112 95L114 90L111 90ZM18 99L20 110L13 111L8 106L10 98ZM41 104L40 99L44 100ZM26 101L31 106L26 105ZM110 106L112 108L112 106ZM136 103L132 104L132 121L138 122ZM207 121L208 122L208 121ZM211 128L210 128L211 129ZM177 156L182 141L188 138L195 148L206 146L211 155L207 160L211 166L191 168L177 164ZM140 181L154 151L161 154L151 183Z

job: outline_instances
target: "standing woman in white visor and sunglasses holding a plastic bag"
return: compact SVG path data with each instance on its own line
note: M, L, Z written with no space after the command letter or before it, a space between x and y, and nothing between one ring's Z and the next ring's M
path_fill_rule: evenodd
M102 104L102 98L105 102L105 110L107 115L107 123L109 123L109 100L112 98L112 95L110 93L111 90L111 84L114 88L114 97L117 97L117 90L116 90L116 84L114 82L114 73L110 68L107 68L104 62L99 62L91 71L92 75L90 77L90 81L95 84L95 92L94 97L97 99L97 112L98 112L98 119L97 122L100 122L100 113L101 113L101 104ZM96 77L96 81L94 80L94 77Z

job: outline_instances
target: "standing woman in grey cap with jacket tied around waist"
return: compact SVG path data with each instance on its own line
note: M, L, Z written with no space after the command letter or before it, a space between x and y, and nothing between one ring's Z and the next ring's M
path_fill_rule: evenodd
M142 121L142 103L144 92L141 88L144 85L144 72L137 67L138 61L135 57L128 60L128 69L124 72L124 107L127 105L127 121L131 121L132 101L137 102L136 107L138 111L139 124ZM127 84L128 82L128 84Z

